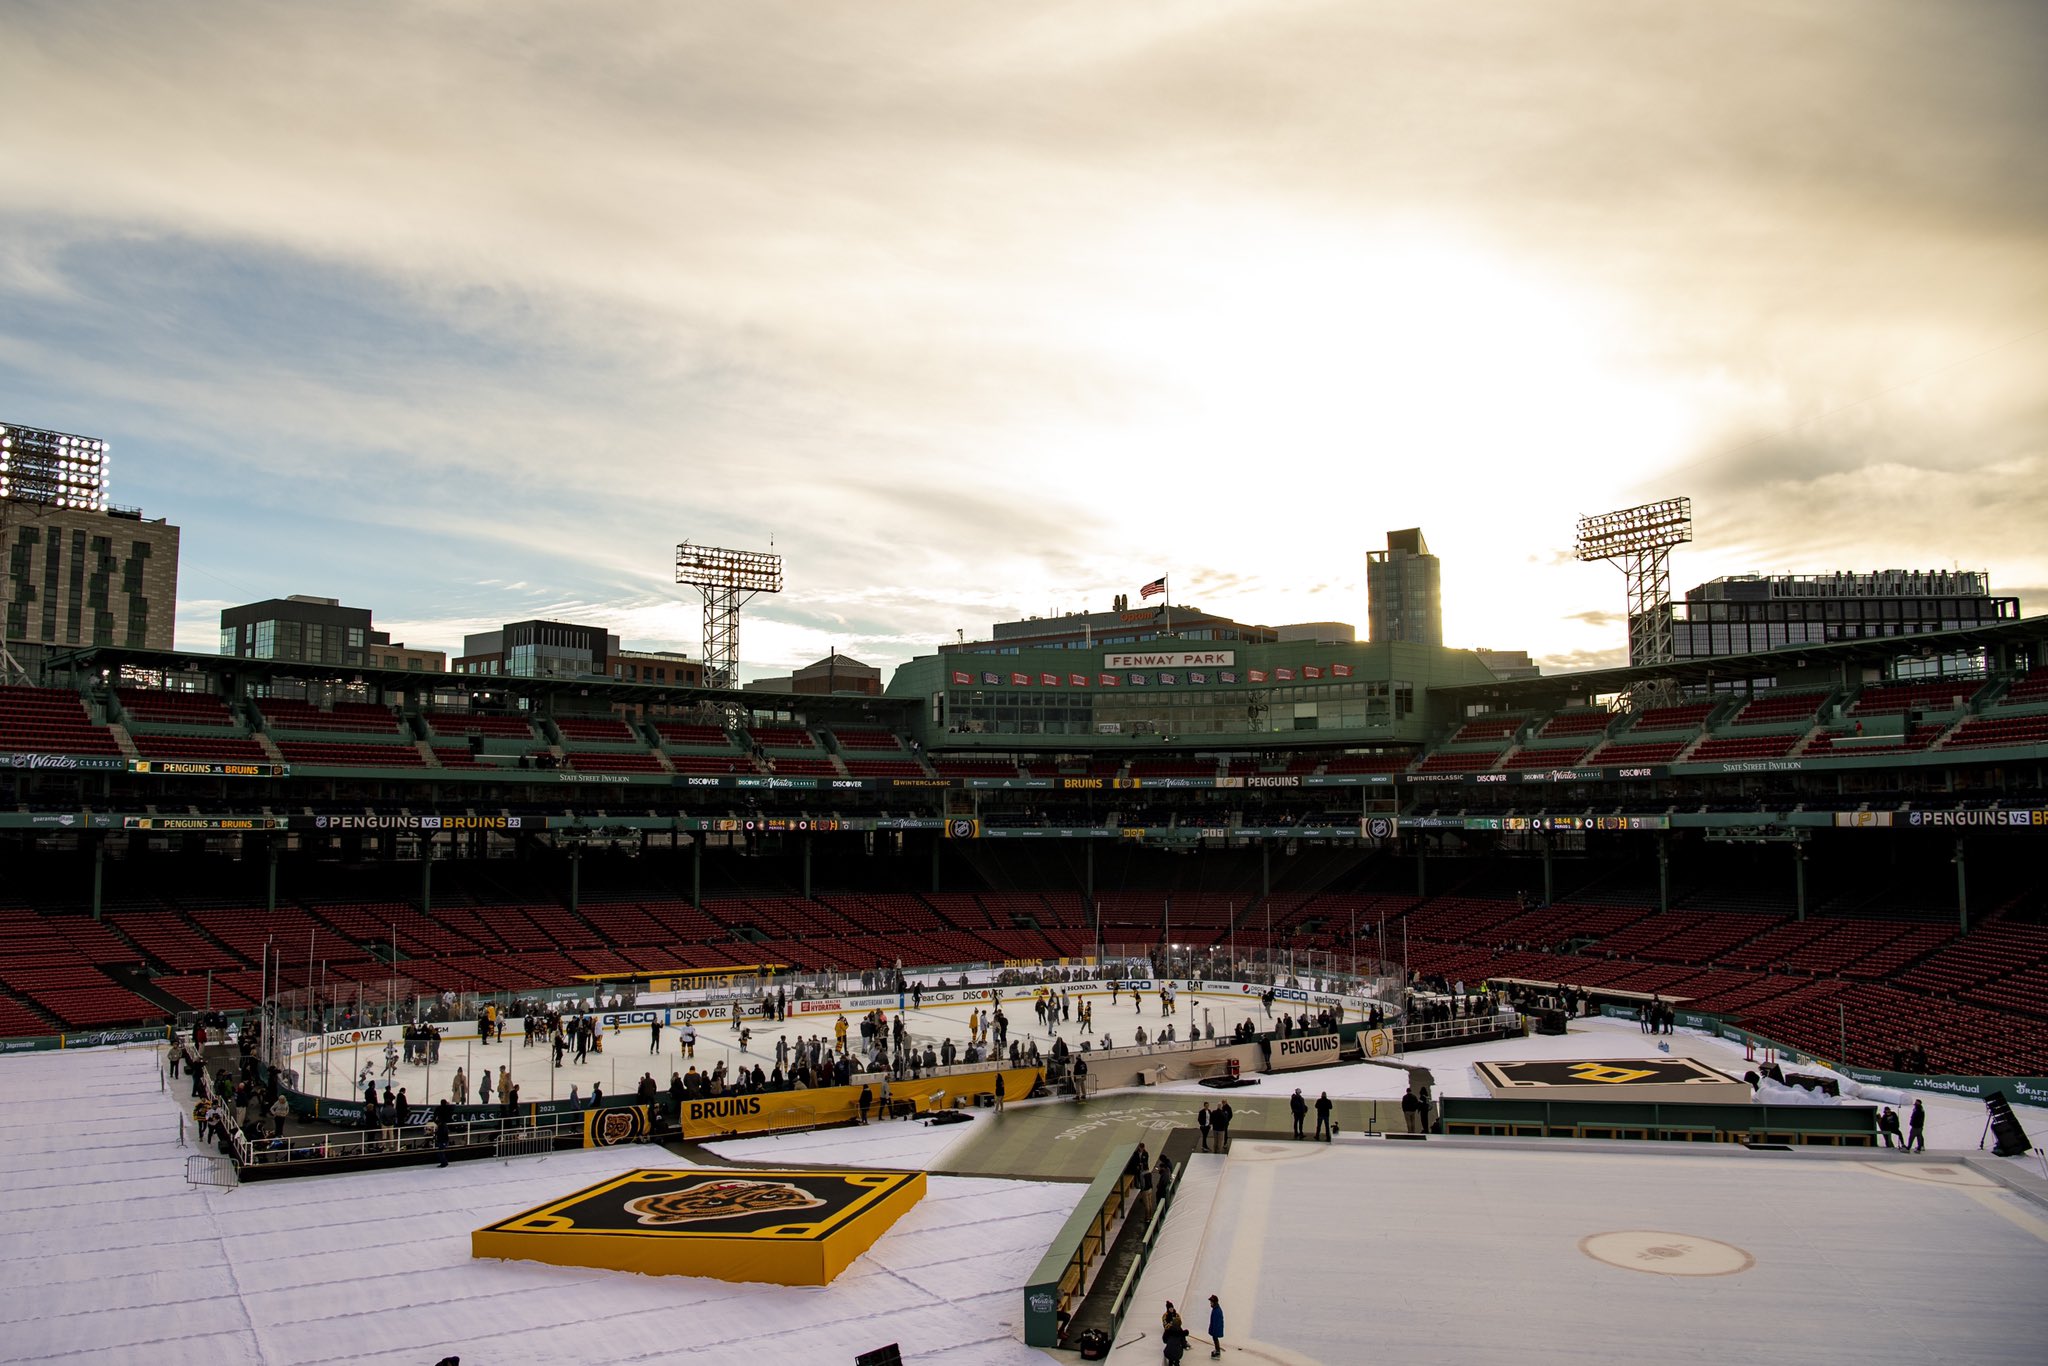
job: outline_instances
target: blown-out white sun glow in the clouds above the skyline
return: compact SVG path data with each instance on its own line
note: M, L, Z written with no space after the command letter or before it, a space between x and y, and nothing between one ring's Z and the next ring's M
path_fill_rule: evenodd
M1120 287L1077 328L1112 412L1063 449L1126 500L1133 532L1176 526L1163 551L1251 575L1239 600L1202 600L1245 621L1364 623L1364 553L1423 522L1448 639L1518 643L1540 604L1499 582L1495 551L1569 547L1597 510L1585 483L1661 465L1698 430L1634 365L1622 309L1481 240L1186 213L1120 256ZM1460 582L1460 561L1487 567Z

